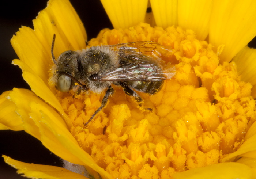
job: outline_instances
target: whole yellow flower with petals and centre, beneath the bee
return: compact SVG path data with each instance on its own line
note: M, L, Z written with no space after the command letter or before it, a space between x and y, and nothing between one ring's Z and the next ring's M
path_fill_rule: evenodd
M114 87L107 106L84 126L104 94L74 94L49 85L54 56L86 48L86 32L67 0L50 0L11 39L31 91L0 96L0 129L25 130L74 167L28 164L3 156L30 178L255 178L256 1L101 0L114 26L90 46L155 41L175 65L157 94L139 93L144 107ZM154 18L154 19L152 19ZM143 21L156 24L152 27ZM84 167L83 167L84 166Z

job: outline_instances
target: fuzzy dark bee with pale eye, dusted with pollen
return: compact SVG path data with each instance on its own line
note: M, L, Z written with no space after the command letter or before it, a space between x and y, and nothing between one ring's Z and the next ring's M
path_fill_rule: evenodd
M106 106L109 96L114 94L112 84L121 86L125 94L135 98L141 107L143 99L136 91L153 95L162 88L165 79L175 74L174 67L163 70L159 57L163 53L173 54L173 50L156 42L130 42L68 50L56 60L53 55L55 37L54 34L51 49L54 66L50 81L56 89L78 93L88 90L101 93L106 89L101 106L85 126Z

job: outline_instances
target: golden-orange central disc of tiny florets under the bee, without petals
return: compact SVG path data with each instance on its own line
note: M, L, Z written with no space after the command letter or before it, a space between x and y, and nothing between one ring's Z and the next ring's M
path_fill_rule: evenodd
M106 107L87 126L105 93L58 92L80 147L113 178L123 179L171 178L236 151L255 121L252 86L240 80L236 64L221 64L211 44L180 27L105 29L89 46L137 41L169 46L172 53L161 60L175 67L174 77L154 95L138 92L142 107L113 85Z

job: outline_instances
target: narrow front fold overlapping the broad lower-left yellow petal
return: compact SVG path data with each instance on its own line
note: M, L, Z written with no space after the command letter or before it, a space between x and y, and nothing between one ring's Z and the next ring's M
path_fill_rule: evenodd
M48 114L45 114L45 111L41 110L40 105L33 104L31 107L33 108L33 113L30 115L39 127L42 144L64 160L79 165L87 165L97 171L103 178L111 178L111 176L103 168L99 167L93 158L78 145L71 133L62 127L57 120L53 120Z

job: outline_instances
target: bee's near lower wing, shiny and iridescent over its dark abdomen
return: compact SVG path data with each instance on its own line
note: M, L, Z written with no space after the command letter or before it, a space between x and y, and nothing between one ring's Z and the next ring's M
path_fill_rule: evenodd
M95 81L161 81L165 80L162 68L145 61L129 62L116 69L99 73Z

